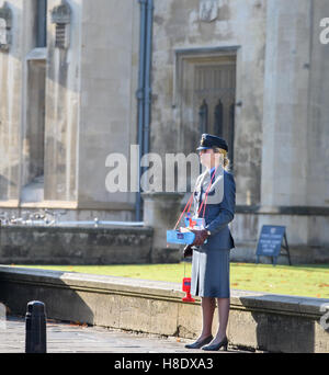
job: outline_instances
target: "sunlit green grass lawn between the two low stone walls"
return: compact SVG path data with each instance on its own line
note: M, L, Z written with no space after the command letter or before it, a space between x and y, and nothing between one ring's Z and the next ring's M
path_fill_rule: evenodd
M20 266L25 268L25 265ZM99 266L39 265L29 268L173 283L181 283L184 277L184 263ZM186 277L189 277L191 274L191 263L185 263L185 273ZM231 263L230 284L232 289L329 298L329 264L273 266L272 264Z

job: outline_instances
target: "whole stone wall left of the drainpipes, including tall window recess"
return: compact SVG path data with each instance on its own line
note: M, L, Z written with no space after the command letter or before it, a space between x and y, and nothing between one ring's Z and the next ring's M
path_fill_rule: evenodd
M43 48L36 1L5 3L13 37L0 52L1 207L132 220L135 194L110 193L105 180L114 167L107 156L121 152L129 164L137 140L138 2L67 0L65 48L56 46L52 20L59 0L47 1Z

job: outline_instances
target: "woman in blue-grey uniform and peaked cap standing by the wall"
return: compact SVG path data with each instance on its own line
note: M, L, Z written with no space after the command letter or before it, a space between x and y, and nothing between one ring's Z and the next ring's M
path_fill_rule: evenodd
M191 294L202 300L202 332L188 349L227 350L226 336L229 317L229 254L235 247L228 224L236 205L236 184L228 172L228 146L225 139L204 134L197 148L206 171L201 174L194 191L194 216L204 217L205 227L193 230L195 241L184 249L184 257L193 255ZM218 331L212 336L213 317L218 307Z

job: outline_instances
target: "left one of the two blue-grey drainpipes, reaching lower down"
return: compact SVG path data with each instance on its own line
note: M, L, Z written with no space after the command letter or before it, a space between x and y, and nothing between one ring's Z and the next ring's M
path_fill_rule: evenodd
M140 221L141 213L141 195L140 195L140 160L144 152L144 106L145 106L145 55L146 55L146 21L147 21L147 0L138 0L140 4L140 35L139 35L139 73L138 73L138 90L136 98L138 102L138 145L139 145L139 168L138 168L138 192L136 194L136 221Z

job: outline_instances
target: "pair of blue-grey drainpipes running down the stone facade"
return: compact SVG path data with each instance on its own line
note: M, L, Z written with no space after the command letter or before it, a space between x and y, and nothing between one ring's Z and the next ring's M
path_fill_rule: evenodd
M150 114L151 114L151 56L154 0L138 0L140 4L140 45L138 78L138 145L139 145L139 191L136 196L136 220L141 221L140 160L149 152Z

